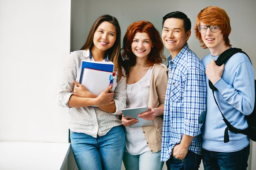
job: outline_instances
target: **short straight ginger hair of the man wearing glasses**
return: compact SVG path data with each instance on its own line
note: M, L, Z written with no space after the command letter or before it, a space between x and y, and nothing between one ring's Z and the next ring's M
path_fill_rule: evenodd
M207 46L204 44L202 40L201 33L198 30L198 26L200 25L200 22L204 22L207 25L219 25L220 31L222 31L223 38L225 41L225 44L227 46L231 46L229 43L229 34L231 32L231 26L230 26L230 20L229 16L227 15L226 11L224 9L221 9L219 7L206 7L203 10L198 13L198 17L196 18L195 22L195 36L198 38L201 46L204 49L207 49Z

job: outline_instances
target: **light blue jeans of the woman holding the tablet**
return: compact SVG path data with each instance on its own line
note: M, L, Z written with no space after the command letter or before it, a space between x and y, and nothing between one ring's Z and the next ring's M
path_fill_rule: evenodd
M124 166L126 170L162 170L164 162L160 161L161 150L151 153L150 150L140 155L130 155L124 152Z

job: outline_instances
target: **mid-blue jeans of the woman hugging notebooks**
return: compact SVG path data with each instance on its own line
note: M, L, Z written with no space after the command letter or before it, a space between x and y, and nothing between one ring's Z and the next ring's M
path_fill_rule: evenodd
M92 137L70 131L71 146L79 170L120 170L125 136L122 126L106 135Z

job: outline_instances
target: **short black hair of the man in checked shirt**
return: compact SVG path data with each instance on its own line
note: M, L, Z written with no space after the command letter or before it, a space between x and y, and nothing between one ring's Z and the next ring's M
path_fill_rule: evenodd
M166 14L163 17L163 22L162 22L162 28L164 28L164 22L165 20L167 20L168 18L178 18L178 19L182 19L183 20L183 26L185 29L185 32L191 30L191 21L188 18L188 16L186 14L184 14L183 12L180 11L175 11L175 12L171 12Z

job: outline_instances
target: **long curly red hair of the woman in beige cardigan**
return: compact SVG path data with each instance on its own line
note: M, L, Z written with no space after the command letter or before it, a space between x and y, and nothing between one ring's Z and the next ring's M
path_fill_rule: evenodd
M159 31L155 26L148 21L137 21L130 24L127 28L126 34L124 35L122 56L124 57L124 62L126 63L126 71L130 66L134 66L136 63L136 56L132 53L132 40L135 33L147 33L149 38L152 40L154 45L148 54L148 66L153 66L154 64L162 63L165 60L164 57L164 45L160 37Z

